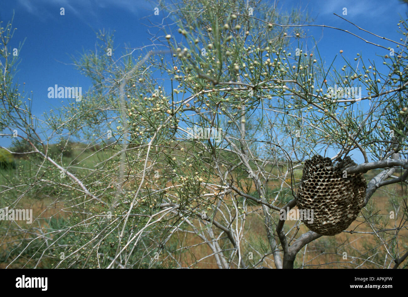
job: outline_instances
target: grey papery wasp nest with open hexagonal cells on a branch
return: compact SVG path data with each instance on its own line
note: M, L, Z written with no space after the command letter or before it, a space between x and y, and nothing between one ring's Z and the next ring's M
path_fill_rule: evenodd
M306 160L296 205L313 209L313 223L302 220L311 230L322 235L335 235L357 218L364 205L367 182L362 173L347 174L344 168L357 165L346 157L333 165L330 158L316 155Z

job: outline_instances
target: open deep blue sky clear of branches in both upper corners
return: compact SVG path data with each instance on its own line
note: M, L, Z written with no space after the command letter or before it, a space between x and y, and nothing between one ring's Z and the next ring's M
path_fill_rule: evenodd
M346 29L386 47L395 47L395 44L358 30L333 13L377 35L399 40L399 15L404 18L408 8L397 0L290 0L278 3L278 7L283 10L298 6L315 19L313 24ZM60 15L61 7L64 7L65 15ZM19 53L19 72L15 79L21 85L25 83L25 93L33 92L33 113L40 117L44 110L55 109L63 104L59 99L47 97L50 86L82 86L82 92L89 88L89 79L74 68L70 56L78 57L84 50L95 48L95 32L115 30L118 52L122 51L125 43L130 48L151 44L151 35L146 26L148 18L155 18L157 22L157 18L164 17L161 12L158 16L152 15L154 7L154 1L138 0L1 0L0 18L4 22L3 26L11 20L13 11L15 13L13 27L17 30L10 43L11 48L18 47L25 39ZM342 15L344 7L347 8L347 15ZM317 27L306 30L307 36L313 36L318 41L319 52L327 63L330 64L337 55L337 69L344 65L339 50L344 51L343 57L350 61L357 53L362 53L365 59L375 59L378 64L382 60L376 55L387 53L345 32ZM0 145L9 144L9 139L0 138Z

